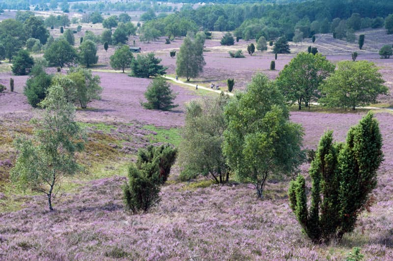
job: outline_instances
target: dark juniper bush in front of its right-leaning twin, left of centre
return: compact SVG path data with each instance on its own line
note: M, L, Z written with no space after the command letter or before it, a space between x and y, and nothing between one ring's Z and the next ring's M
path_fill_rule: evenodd
M128 184L123 186L126 209L134 214L147 211L160 201L160 169L157 160L141 164L139 168L130 166Z

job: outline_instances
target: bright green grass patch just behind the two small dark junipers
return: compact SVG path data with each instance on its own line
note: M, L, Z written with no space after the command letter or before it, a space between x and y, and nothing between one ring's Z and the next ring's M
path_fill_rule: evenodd
M150 143L169 143L174 146L178 146L181 141L180 129L178 128L159 128L154 125L144 125L143 129L154 131L157 134L149 134L147 137L150 139Z

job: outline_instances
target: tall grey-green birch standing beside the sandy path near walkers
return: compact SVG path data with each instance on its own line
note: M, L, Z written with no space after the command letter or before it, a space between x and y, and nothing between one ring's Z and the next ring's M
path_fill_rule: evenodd
M203 71L206 64L203 58L204 39L195 37L192 39L187 36L184 38L180 46L179 53L176 58L176 74L187 78L187 82L191 78L195 78Z

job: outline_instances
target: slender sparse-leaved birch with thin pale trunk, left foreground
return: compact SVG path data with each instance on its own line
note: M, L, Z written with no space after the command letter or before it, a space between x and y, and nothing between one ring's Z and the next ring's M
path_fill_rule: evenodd
M42 120L36 121L33 138L15 141L19 155L10 174L19 187L45 193L52 211L56 184L80 170L75 152L84 147L84 132L74 120L75 108L66 102L60 86L49 89L43 105L47 109Z

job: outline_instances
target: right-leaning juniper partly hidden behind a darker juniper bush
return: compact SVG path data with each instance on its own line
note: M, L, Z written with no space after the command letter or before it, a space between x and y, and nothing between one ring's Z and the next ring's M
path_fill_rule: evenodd
M169 145L153 146L149 145L146 149L141 148L138 150L138 159L136 166L140 169L143 164L149 162L157 162L160 170L159 177L161 183L164 184L168 180L170 168L176 160L177 149Z

